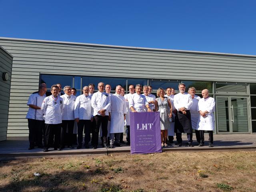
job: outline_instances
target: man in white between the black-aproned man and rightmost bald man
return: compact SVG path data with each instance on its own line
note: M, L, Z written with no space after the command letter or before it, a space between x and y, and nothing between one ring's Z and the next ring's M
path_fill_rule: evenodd
M200 100L200 96L196 95L196 88L194 88L194 87L190 87L188 89L188 93L191 95L192 100L193 100L193 104L192 104L192 106L190 108L192 129L195 130L195 132L196 132L196 140L197 140L198 143L200 143L199 131L196 130L198 118L200 116L200 114L198 113L198 110L197 110L198 101Z

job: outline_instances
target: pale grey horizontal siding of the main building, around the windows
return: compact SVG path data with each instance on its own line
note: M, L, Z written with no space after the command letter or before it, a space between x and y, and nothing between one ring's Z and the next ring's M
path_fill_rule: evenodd
M14 56L8 136L27 136L26 102L38 89L40 73L256 82L253 56L5 38L0 45Z

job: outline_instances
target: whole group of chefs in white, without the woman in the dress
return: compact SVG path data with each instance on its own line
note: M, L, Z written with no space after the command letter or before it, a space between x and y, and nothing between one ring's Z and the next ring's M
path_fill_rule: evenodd
M168 144L174 145L174 132L177 145L182 146L182 133L187 134L186 145L192 146L192 129L196 132L198 146L204 146L204 131L209 133L209 147L213 146L215 100L209 97L207 89L202 90L202 97L196 96L196 88L185 92L186 85L179 84L179 93L173 88L166 88L166 97L170 98L174 122L170 122ZM124 127L126 127L126 144L130 145L130 112L153 112L156 97L151 93L151 86L129 86L129 93L124 95L124 88L116 86L111 94L111 86L98 83L98 92L94 93L94 84L84 86L83 94L76 97L76 89L63 88L54 84L47 92L46 84L39 86L38 92L30 95L26 118L29 128L29 150L50 147L62 150L66 146L77 149L98 148L100 132L102 147L122 146ZM104 92L105 90L105 92ZM141 92L144 94L141 94ZM78 136L77 136L78 134ZM83 135L84 134L84 135ZM92 138L91 135L92 134ZM84 137L84 141L83 141ZM84 142L84 145L82 145Z

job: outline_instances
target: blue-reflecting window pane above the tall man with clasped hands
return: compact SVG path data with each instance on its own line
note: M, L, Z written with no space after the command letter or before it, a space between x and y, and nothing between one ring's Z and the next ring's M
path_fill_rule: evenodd
M122 87L126 87L126 79L125 78L108 78L108 77L82 77L82 87L88 86L88 84L92 83L95 85L95 90L98 90L98 83L103 82L105 85L110 84L111 90L115 91L116 86L120 85Z

